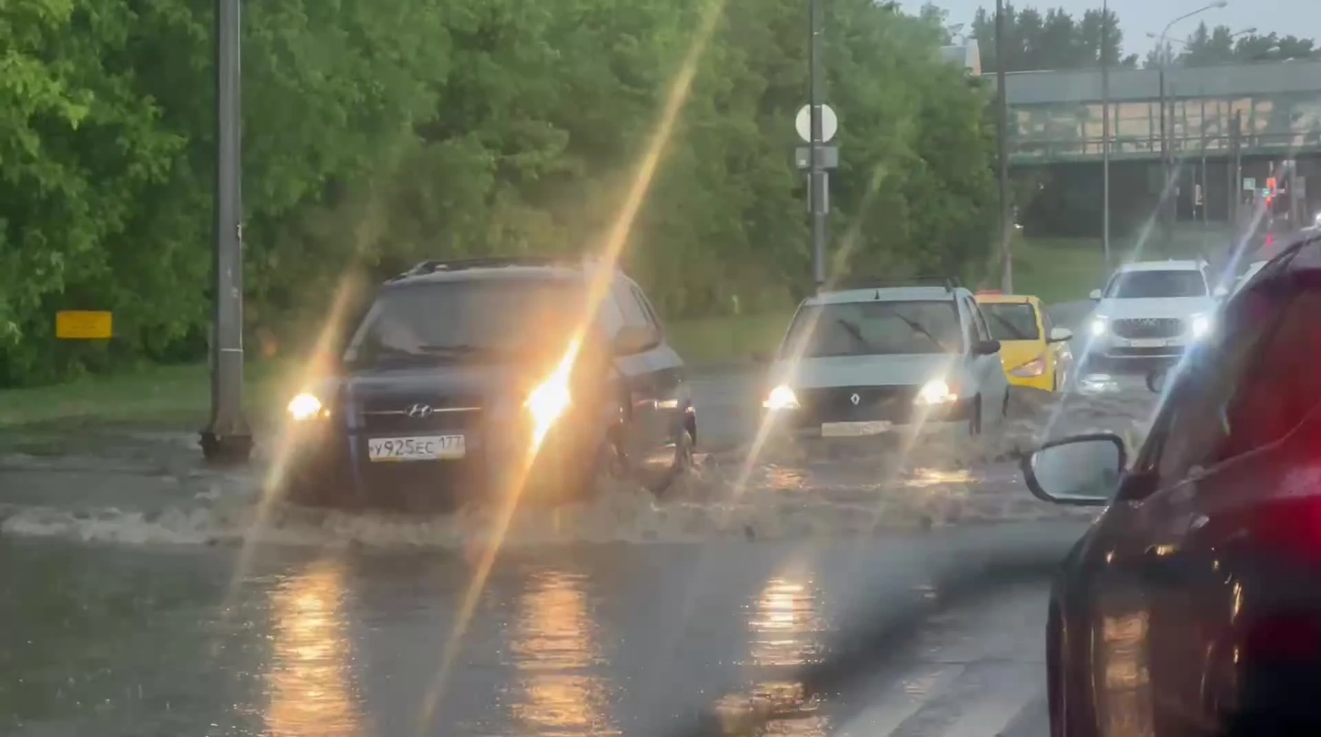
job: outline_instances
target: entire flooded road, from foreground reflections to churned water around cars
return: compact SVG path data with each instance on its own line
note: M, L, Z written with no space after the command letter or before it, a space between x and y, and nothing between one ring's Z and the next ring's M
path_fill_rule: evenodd
M491 535L480 514L258 515L266 466L201 468L190 433L7 439L0 662L16 678L0 680L0 733L674 734L715 705L737 726L849 647L860 613L918 606L942 575L1001 559L1040 575L923 619L857 692L773 730L1044 733L1046 575L1094 512L1033 499L1015 457L1091 429L1136 444L1153 405L1140 380L1018 395L976 442L757 457L756 379L695 390L697 477L666 499L618 489L517 514L458 650L472 551Z

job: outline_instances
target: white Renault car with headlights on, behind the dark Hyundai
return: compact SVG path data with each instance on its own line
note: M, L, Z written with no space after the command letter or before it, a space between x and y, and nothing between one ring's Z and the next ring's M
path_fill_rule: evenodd
M999 427L1009 383L972 293L873 284L798 306L770 367L765 420L798 437Z

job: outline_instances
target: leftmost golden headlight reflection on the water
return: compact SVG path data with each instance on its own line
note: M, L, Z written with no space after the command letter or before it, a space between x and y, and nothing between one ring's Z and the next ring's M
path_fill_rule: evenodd
M271 737L369 734L343 617L342 563L322 560L269 590L273 662L264 713Z

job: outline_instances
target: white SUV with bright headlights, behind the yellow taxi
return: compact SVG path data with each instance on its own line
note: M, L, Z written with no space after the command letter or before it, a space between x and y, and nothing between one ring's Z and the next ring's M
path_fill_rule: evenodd
M1178 359L1214 326L1217 301L1206 262L1124 264L1096 300L1089 326L1087 363L1111 372L1143 370Z

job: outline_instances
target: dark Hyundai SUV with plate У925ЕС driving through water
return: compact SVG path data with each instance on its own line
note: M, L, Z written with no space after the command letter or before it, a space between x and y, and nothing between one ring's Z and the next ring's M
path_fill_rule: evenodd
M692 458L684 363L614 269L425 262L379 288L336 353L288 405L297 502L563 501L610 474L659 493Z

